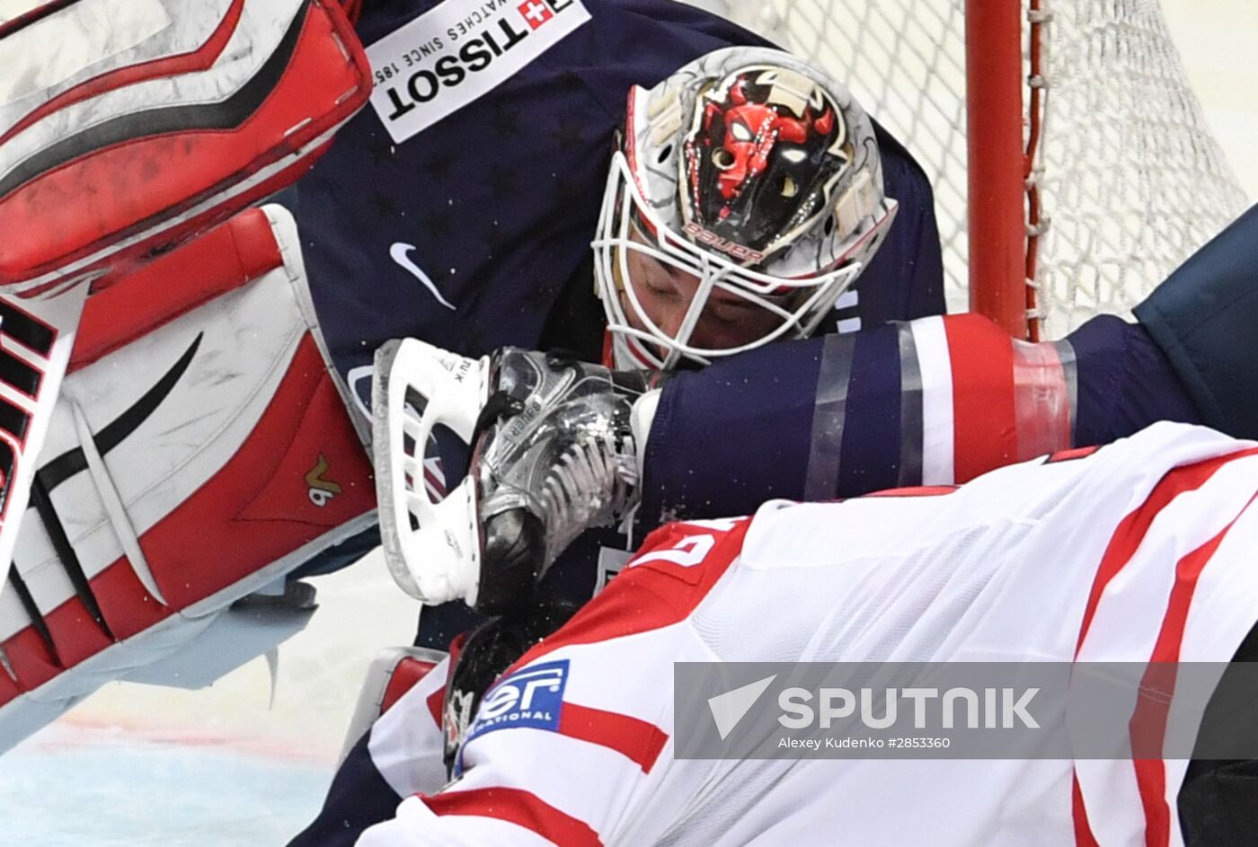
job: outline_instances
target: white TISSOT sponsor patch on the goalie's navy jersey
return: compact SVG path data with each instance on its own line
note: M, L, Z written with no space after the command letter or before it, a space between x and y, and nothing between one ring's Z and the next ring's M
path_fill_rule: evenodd
M502 84L587 20L581 0L445 0L367 48L371 107L401 143Z

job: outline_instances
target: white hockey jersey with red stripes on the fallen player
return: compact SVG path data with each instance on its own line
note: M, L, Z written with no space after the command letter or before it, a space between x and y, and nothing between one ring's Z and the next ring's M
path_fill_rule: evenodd
M359 844L1183 843L1185 760L673 758L677 661L1228 661L1258 618L1250 442L1162 424L891 494L654 533L435 790L439 667L370 739L401 795L435 793ZM541 714L494 696L530 679L562 682Z

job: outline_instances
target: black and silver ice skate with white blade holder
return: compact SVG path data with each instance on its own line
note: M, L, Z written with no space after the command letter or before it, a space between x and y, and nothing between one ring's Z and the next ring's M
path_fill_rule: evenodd
M513 348L469 359L416 339L381 347L376 489L399 586L483 612L527 602L577 535L637 504L650 378ZM439 425L474 450L467 478L437 501L424 452Z

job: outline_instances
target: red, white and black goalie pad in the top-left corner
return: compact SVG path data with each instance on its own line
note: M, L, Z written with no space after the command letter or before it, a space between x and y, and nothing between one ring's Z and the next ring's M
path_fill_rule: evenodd
M62 0L0 25L0 289L123 274L293 182L371 92L335 0Z

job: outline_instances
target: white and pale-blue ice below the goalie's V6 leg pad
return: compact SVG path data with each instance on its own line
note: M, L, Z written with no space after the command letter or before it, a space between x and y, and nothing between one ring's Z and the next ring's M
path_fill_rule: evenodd
M367 665L418 603L376 552L312 581L320 608L209 689L112 682L0 755L3 847L270 847L323 802Z

